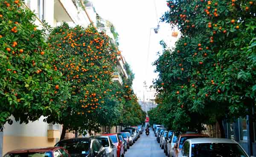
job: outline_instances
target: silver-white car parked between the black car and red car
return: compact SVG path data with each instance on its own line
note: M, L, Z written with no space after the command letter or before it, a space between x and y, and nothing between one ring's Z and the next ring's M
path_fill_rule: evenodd
M117 148L116 145L112 142L111 138L108 136L96 136L97 140L99 140L102 146L105 148L108 157L116 157Z

